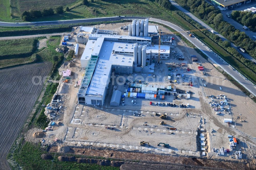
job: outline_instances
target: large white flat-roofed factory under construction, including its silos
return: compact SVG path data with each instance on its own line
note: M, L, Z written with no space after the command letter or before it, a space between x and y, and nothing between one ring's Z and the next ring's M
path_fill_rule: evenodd
M101 33L92 33L94 28L82 28L89 30L89 34L81 56L81 67L86 71L77 94L80 104L103 105L112 72L115 75L154 72L159 47L152 45L148 36L147 19L134 20L129 25L129 35L99 30ZM170 46L161 45L160 58L169 57Z

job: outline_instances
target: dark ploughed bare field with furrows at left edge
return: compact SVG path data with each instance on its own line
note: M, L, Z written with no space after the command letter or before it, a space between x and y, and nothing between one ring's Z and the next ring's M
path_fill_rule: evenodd
M7 153L41 92L51 66L36 63L0 70L0 169L9 169Z

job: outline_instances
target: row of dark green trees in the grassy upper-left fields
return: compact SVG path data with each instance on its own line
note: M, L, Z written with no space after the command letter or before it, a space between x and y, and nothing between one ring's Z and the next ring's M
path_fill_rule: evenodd
M69 10L69 8L67 7L66 10ZM48 9L43 9L43 11L41 12L40 10L28 10L28 11L24 11L21 15L22 20L23 21L30 21L33 18L39 18L42 16L50 16L50 15L54 15L56 14L62 14L64 12L63 7L62 6L58 6L56 7L55 11L52 8L48 8Z

